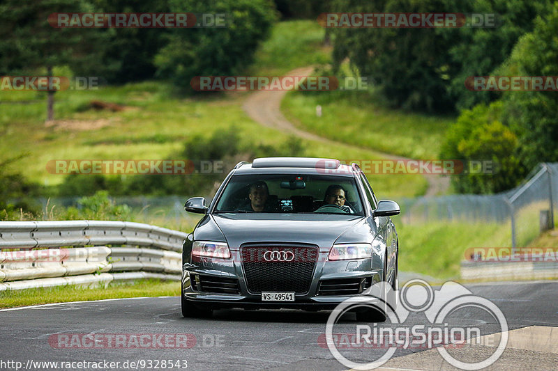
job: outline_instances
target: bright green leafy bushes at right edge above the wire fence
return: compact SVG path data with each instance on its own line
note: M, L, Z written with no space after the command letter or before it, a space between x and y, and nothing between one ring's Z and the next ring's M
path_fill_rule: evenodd
M496 75L558 75L558 3L534 24ZM463 111L448 131L442 157L492 159L499 164L492 176L453 177L457 191L492 193L515 187L539 162L558 161L557 93L509 91L488 107L479 104Z

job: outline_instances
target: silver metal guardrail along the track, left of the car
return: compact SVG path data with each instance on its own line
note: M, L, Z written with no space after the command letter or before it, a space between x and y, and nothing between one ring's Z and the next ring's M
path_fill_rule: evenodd
M179 281L184 239L183 232L128 221L3 221L0 291L139 278Z

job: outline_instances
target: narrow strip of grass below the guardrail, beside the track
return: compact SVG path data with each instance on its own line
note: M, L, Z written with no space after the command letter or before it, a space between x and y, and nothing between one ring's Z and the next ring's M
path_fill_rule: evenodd
M179 282L160 280L110 283L108 288L110 290L107 290L104 285L93 287L69 285L0 291L0 308L128 297L174 297L180 293Z

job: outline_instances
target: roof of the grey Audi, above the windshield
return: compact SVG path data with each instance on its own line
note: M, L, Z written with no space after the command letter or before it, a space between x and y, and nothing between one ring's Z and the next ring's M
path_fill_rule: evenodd
M356 167L341 164L338 159L318 157L260 157L250 164L241 161L235 166L239 174L324 174L354 176Z

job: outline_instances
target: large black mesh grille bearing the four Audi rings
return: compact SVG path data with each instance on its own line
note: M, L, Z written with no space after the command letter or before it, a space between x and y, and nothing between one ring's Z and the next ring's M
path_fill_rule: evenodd
M248 246L241 248L241 258L249 292L306 294L312 283L318 250L317 247Z

